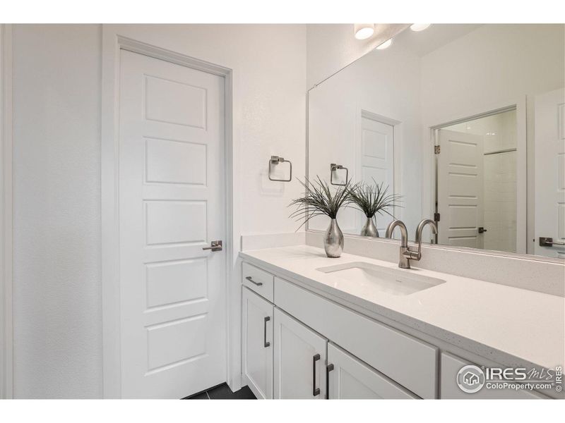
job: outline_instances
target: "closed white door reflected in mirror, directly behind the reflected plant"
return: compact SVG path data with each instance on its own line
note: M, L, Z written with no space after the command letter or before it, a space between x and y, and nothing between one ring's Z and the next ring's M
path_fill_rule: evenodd
M362 112L359 142L357 145L357 181L373 184L373 180L388 187L394 194L394 127L368 118ZM393 210L389 210L393 213ZM357 231L365 224L366 217L357 214ZM388 214L377 214L376 226L381 236L393 218Z

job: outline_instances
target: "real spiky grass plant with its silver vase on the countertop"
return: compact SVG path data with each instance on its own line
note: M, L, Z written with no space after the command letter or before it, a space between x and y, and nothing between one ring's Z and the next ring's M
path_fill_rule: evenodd
M328 216L331 222L323 236L323 248L328 257L340 257L343 252L343 233L336 218L340 208L346 207L351 202L350 183L331 188L319 176L316 177L314 183L308 179L305 182L299 180L299 183L304 186L304 197L297 198L290 203L290 206L297 207L290 217L302 221L299 226L302 228L314 216Z

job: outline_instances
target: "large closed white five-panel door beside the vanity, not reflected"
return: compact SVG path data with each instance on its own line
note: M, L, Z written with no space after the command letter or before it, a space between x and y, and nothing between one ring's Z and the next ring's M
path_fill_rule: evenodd
M121 51L121 393L226 379L223 79Z

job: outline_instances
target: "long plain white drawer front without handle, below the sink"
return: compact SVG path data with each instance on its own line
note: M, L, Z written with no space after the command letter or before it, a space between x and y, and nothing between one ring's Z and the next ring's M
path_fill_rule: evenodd
M275 304L422 398L436 398L438 349L277 278Z

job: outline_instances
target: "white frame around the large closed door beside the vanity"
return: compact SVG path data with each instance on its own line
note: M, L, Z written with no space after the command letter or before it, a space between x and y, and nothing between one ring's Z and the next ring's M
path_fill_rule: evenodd
M224 149L225 149L225 302L226 302L226 380L232 388L239 388L232 369L234 338L230 322L237 312L231 299L237 285L234 266L233 231L233 142L232 142L232 70L194 57L179 54L138 39L119 35L102 25L102 110L101 110L101 220L102 220L102 393L104 398L121 398L121 338L119 287L119 64L124 49L177 63L181 66L218 75L224 78Z

